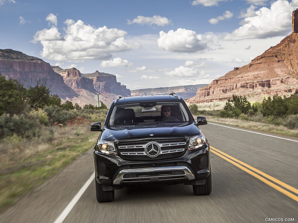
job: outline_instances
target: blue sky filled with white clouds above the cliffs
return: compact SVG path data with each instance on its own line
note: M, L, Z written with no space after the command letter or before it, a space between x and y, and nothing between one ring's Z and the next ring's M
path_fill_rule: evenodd
M128 89L210 84L292 32L298 0L0 0L0 49Z

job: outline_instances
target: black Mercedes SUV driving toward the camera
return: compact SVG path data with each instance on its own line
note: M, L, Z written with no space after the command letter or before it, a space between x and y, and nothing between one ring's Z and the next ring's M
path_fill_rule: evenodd
M117 98L94 147L98 202L114 200L114 190L144 183L193 185L195 195L211 193L209 142L186 103L176 93Z

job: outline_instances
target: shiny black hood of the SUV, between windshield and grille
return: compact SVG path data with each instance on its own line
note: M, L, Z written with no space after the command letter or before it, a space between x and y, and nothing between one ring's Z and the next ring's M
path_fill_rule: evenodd
M156 138L184 138L201 134L199 128L194 123L187 125L135 125L131 127L121 126L118 128L105 128L101 134L101 139L112 142L119 140L134 139L156 139Z

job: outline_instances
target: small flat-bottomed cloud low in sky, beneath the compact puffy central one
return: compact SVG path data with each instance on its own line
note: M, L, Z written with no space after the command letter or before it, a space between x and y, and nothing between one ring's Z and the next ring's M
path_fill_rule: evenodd
M198 78L207 78L209 75L206 73L206 71L203 71L203 70L180 66L175 68L175 70L172 70L170 72L165 72L165 76L168 76L171 78L193 77L193 76L196 76Z

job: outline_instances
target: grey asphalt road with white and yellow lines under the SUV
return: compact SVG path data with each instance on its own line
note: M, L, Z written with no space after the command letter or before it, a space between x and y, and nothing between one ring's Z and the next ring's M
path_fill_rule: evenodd
M115 191L114 202L98 203L90 148L0 213L0 222L298 221L297 138L215 123L200 129L212 148L209 196L195 196L183 184L138 186Z

